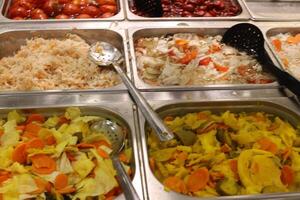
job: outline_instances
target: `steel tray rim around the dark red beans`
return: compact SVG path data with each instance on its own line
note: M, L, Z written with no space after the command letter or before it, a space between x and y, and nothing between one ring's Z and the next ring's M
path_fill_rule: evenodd
M170 20L247 20L250 18L245 5L241 2L241 0L233 0L235 1L240 9L241 13L237 16L230 16L230 17L142 17L134 14L130 10L130 5L132 4L133 0L124 0L125 1L125 9L126 15L129 20L134 21L170 21ZM138 0L137 0L138 1Z

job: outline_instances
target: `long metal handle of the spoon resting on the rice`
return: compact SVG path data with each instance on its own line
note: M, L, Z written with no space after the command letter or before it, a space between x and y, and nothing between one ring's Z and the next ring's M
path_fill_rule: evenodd
M168 141L174 138L174 134L166 127L160 117L151 108L143 95L136 89L133 83L129 80L127 75L123 72L122 68L118 64L114 64L115 70L120 75L123 83L127 86L129 93L136 102L138 108L142 111L144 117L155 130L158 138L161 141Z

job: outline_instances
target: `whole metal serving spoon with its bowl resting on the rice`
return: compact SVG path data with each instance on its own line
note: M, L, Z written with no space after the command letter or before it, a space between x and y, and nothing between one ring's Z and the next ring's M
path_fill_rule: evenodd
M169 128L164 125L160 117L154 112L145 98L135 88L127 75L123 72L122 68L120 67L120 64L123 62L122 54L117 48L107 42L96 42L91 45L89 56L97 65L114 67L121 77L123 83L128 88L128 91L135 100L137 106L139 109L141 109L146 120L155 130L155 133L161 141L168 141L174 138L172 131L170 131Z

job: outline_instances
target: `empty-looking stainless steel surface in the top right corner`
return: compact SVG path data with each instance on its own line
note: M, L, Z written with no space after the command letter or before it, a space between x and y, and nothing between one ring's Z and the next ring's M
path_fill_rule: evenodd
M251 19L257 21L295 21L300 19L299 0L243 0Z

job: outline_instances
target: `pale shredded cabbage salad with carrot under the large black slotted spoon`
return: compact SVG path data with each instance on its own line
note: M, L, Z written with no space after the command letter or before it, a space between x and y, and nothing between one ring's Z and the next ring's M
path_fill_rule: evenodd
M135 41L138 73L150 85L267 84L274 78L222 36L177 33Z

